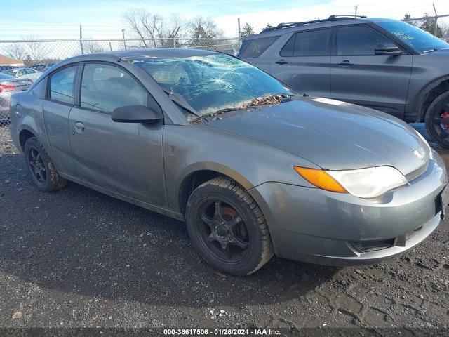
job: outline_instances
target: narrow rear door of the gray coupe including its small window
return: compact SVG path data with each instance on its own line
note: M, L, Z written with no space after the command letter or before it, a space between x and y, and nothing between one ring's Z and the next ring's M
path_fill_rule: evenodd
M51 73L46 84L46 100L43 102L43 121L48 143L53 153L53 161L58 171L74 173L74 162L67 131L69 112L74 105L74 82L77 64L67 65Z

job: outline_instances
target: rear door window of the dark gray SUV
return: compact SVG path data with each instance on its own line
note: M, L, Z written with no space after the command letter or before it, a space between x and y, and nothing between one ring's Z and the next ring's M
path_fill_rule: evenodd
M297 32L281 49L281 56L326 56L330 29Z

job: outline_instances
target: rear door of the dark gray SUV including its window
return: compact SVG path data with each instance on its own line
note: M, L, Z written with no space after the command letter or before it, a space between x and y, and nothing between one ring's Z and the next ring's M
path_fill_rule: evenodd
M330 95L331 29L294 33L272 58L271 74L301 93Z

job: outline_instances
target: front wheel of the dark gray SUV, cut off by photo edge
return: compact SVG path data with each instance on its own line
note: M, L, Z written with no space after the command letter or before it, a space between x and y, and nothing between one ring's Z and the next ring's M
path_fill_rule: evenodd
M429 136L441 147L449 149L449 91L439 95L429 105L425 122Z

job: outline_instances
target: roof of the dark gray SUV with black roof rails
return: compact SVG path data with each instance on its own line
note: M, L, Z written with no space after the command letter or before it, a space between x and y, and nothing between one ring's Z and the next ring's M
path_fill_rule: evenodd
M250 37L246 37L244 40L260 39L261 37L279 36L282 34L290 32L298 32L301 30L319 29L341 25L356 25L363 22L377 23L389 21L396 21L396 20L387 18L366 18L366 17L351 18L349 16L335 17L335 15L331 15L328 19L322 20L280 23L278 26L262 30L262 32L260 32L259 34L254 34L251 35Z

